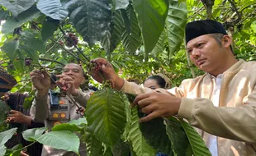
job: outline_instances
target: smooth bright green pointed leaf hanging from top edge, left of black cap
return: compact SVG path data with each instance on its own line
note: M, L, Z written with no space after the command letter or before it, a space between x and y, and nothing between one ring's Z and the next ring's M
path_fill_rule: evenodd
M135 0L133 6L138 16L145 45L145 57L147 57L164 30L164 21L168 13L168 0Z

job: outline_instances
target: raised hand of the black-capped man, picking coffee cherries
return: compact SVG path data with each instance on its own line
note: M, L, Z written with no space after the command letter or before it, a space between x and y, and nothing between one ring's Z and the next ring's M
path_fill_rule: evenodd
M97 58L92 60L92 63L97 63L97 65L100 67L100 71L90 72L90 75L94 80L102 83L104 77L106 80L113 81L115 89L121 89L121 87L124 85L124 80L117 76L110 62L107 62L107 60L104 58Z

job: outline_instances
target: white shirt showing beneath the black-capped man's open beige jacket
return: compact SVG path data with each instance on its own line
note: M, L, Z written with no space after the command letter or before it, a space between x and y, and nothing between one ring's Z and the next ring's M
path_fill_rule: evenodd
M216 85L213 88L213 94L211 97L211 101L214 106L219 107L220 101L220 86L223 74L220 74L217 77L214 77ZM218 145L217 145L217 137L216 135L209 135L208 140L206 141L206 145L208 146L212 156L218 156Z

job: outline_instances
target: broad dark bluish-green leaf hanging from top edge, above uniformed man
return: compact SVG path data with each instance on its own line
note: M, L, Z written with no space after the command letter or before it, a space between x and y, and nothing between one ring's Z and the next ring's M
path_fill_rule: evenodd
M72 0L65 8L74 28L89 45L100 41L109 30L111 8L108 0Z

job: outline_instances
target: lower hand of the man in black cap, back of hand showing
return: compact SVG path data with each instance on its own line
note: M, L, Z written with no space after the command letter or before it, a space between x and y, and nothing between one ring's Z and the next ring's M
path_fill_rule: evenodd
M140 118L140 122L148 122L156 117L172 117L178 114L181 99L169 94L150 92L139 94L132 106L138 105L141 112L148 114Z

